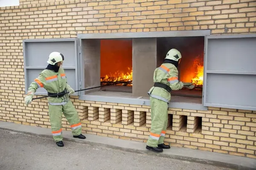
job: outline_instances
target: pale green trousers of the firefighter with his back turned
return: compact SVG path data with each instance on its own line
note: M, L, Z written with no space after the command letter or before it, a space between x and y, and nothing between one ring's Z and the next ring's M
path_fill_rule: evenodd
M168 104L159 99L150 97L151 105L151 131L147 145L157 147L157 144L162 144L166 134L168 121Z

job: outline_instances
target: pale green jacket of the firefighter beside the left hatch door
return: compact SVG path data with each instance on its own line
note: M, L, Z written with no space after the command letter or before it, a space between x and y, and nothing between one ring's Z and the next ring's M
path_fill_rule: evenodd
M34 82L30 84L28 90L35 93L38 88L44 88L50 93L61 93L68 87L70 86L67 84L67 77L63 68L59 68L58 72L45 69L39 74ZM48 97L47 99L50 105L64 105L68 102L69 95L66 94L58 98Z

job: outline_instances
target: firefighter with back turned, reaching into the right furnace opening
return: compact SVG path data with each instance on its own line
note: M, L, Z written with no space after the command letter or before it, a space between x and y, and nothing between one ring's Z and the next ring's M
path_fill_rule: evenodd
M183 83L178 80L177 67L181 54L176 49L171 49L163 64L154 71L154 86L148 91L151 105L151 131L146 149L154 152L163 152L170 146L163 143L168 120L168 104L171 100L170 92L184 87L192 89L192 83Z

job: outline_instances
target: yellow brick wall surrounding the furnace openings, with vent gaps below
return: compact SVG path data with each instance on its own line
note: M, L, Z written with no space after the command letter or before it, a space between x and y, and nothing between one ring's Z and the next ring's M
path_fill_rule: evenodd
M226 28L226 29L225 29ZM256 33L255 0L20 0L0 8L0 120L50 128L46 99L24 105L24 39L78 33L211 30ZM72 99L83 132L146 142L150 107ZM201 122L202 120L202 122ZM201 126L200 126L201 122ZM70 130L65 118L64 130ZM169 110L172 146L256 158L256 112Z

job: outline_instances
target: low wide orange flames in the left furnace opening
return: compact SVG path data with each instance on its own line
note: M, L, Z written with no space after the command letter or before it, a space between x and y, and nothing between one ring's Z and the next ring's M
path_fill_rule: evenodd
M117 81L132 81L132 69L128 68L130 72L124 74L122 71L116 71L114 74L106 75L103 79L100 79L101 82L117 82Z

